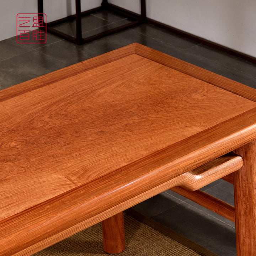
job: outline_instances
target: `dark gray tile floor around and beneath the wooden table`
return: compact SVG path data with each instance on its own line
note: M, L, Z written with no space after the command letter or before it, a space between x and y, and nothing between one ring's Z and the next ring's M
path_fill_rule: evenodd
M128 22L121 16L99 12L83 19L83 36ZM74 33L74 24L59 25ZM46 44L18 44L16 37L0 42L0 89L138 42L204 69L256 88L256 64L205 46L153 25L140 25L77 46L50 33ZM204 191L234 204L233 187L218 180ZM234 256L234 223L196 203L165 191L134 207L139 212L207 247L219 256Z

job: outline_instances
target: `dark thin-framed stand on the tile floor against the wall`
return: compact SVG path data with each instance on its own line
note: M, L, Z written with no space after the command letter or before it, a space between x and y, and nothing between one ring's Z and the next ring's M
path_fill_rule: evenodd
M108 0L102 0L100 7L81 12L81 0L75 0L75 2L76 2L76 14L62 18L60 20L56 20L56 21L47 23L47 31L48 32L55 34L56 36L62 37L70 42L73 42L76 44L83 44L83 43L87 43L87 42L93 41L95 39L98 39L98 38L101 38L104 36L108 36L109 34L113 34L115 32L125 30L126 28L137 26L137 25L140 25L140 24L146 22L146 0L140 0L140 10L141 10L140 15L135 14L131 11L125 10L116 5L109 4ZM37 0L37 3L38 3L38 13L43 14L43 0ZM102 33L98 33L94 36L82 38L82 22L81 22L82 16L86 16L86 15L92 14L94 12L102 11L102 10L114 12L116 14L127 17L132 21L126 25L119 26L117 28L113 28L111 30L104 31ZM76 37L75 38L53 28L54 25L57 25L57 24L60 24L60 23L66 22L66 21L72 21L72 20L76 20ZM45 23L44 23L44 26L45 26Z

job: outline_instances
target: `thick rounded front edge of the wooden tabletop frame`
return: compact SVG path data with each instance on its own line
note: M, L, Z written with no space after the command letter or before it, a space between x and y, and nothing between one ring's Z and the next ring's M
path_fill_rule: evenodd
M35 242L42 241L82 222L86 218L92 218L108 208L129 200L129 198L171 181L183 171L190 171L191 166L193 169L193 166L194 168L198 167L204 162L208 162L210 158L214 159L218 154L223 154L223 151L238 148L240 143L251 140L250 128L255 131L255 126L248 127L248 123L246 125L246 121L252 122L255 115L250 116L251 118L247 118L248 116L248 113L240 115L239 120L232 120L233 122L229 122L228 126L224 123L218 128L208 129L205 134L201 133L196 137L197 140L195 138L183 140L175 147L156 154L154 158L150 156L125 166L101 179L70 190L26 212L6 219L0 227L2 238L0 241L2 251L0 252L6 256L12 255L17 250L25 249ZM238 123L234 121L238 121ZM246 125L247 129L241 129L241 125ZM239 130L239 141L234 134L229 138L225 137L224 131L232 134L232 129L233 132L236 129ZM245 131L244 134L241 130ZM161 189L164 191L170 187L170 184L167 183ZM145 196L147 195L145 193ZM114 202L112 198L115 198ZM143 199L146 198L148 197ZM55 218L52 218L53 215ZM40 223L39 226L38 223ZM10 242L17 237L17 234L20 234L22 242L17 241L17 244ZM23 241L23 238L26 240Z

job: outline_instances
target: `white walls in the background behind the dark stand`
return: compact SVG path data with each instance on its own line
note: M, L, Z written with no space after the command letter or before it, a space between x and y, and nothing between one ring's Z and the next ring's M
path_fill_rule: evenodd
M109 0L139 12L139 0ZM82 11L101 0L81 0ZM71 7L71 11L67 10ZM182 31L256 57L255 0L146 0L147 16ZM0 0L0 40L16 35L16 15L37 13L36 0ZM47 21L75 13L74 0L44 0Z

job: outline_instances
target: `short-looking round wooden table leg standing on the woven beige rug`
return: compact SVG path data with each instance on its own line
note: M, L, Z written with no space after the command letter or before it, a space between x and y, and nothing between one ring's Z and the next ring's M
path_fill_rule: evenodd
M117 254L125 249L123 212L102 222L103 248L110 254Z

